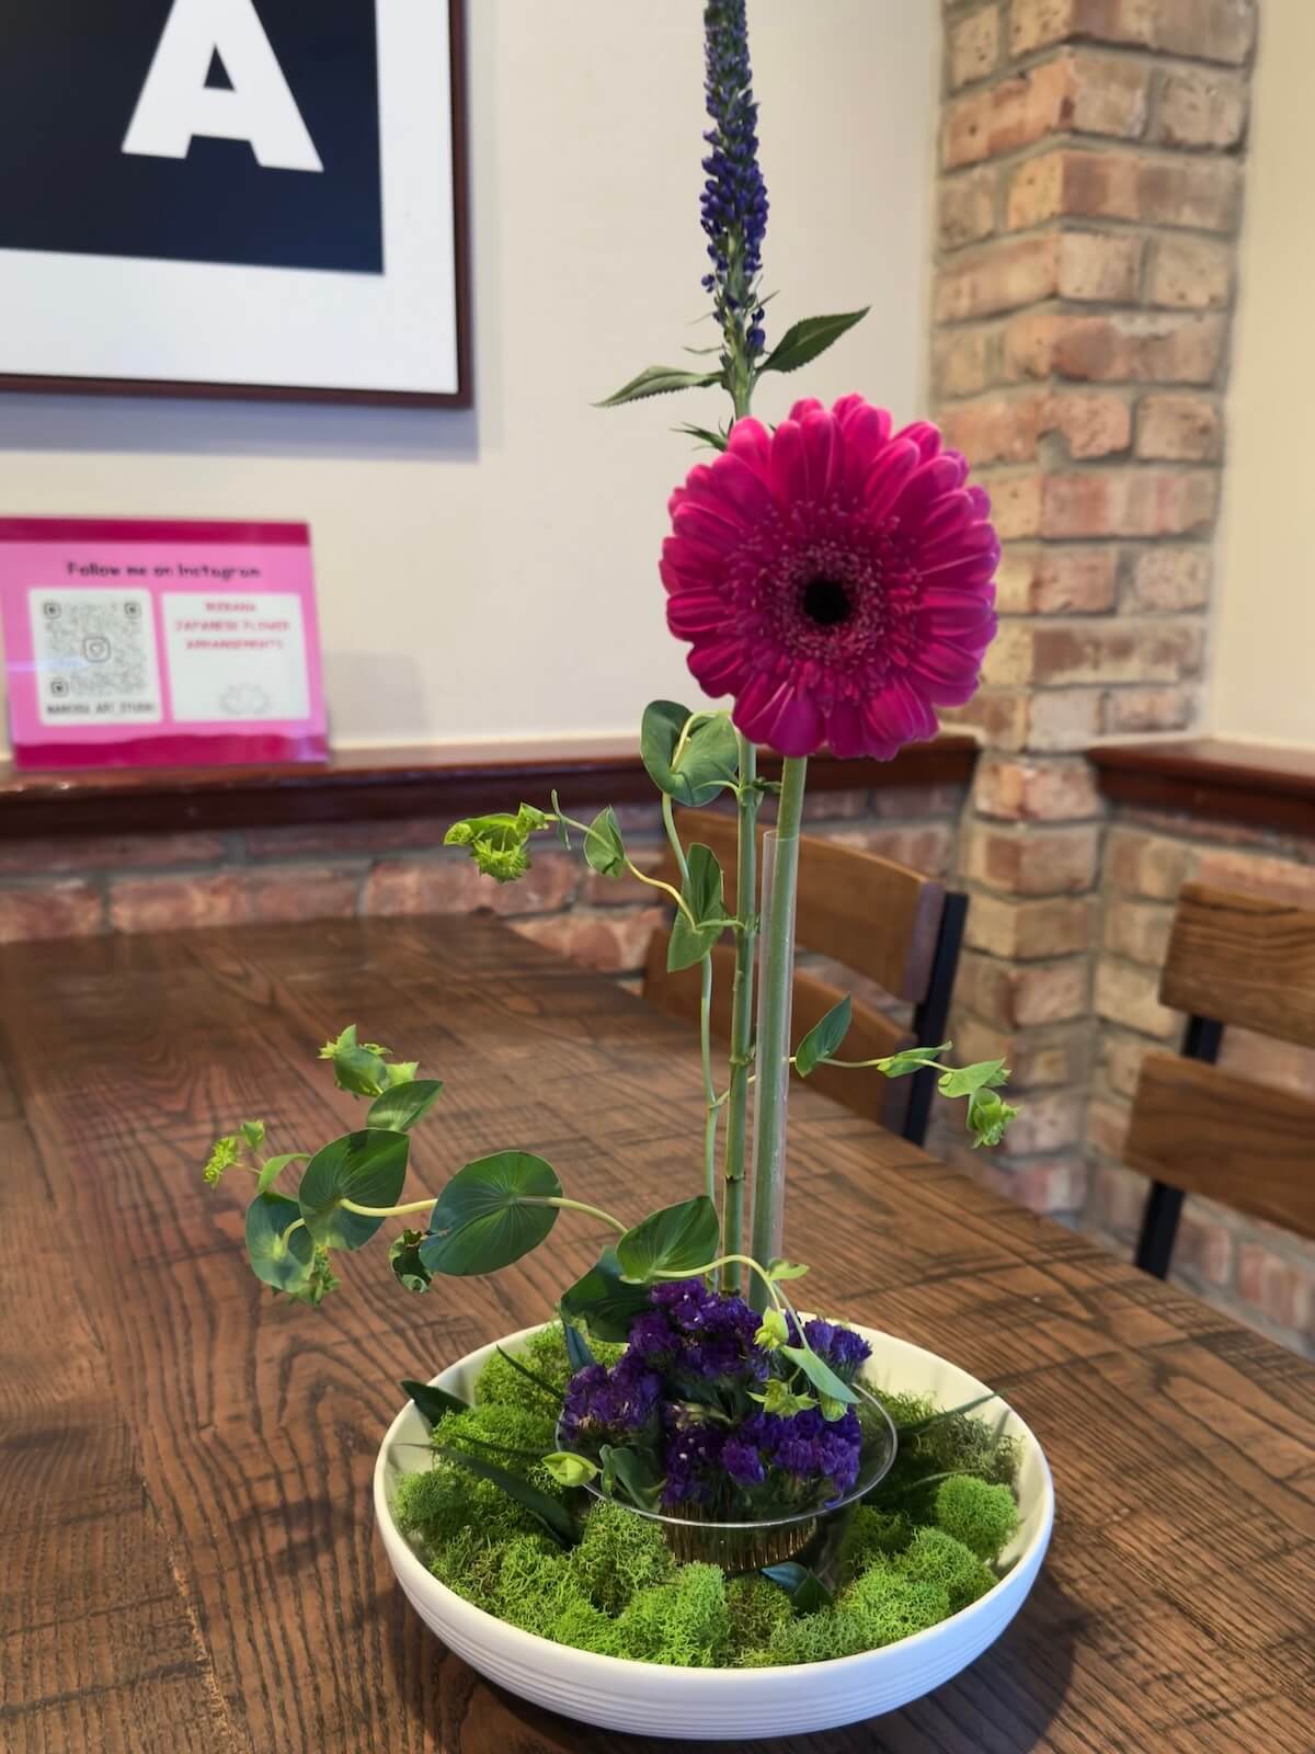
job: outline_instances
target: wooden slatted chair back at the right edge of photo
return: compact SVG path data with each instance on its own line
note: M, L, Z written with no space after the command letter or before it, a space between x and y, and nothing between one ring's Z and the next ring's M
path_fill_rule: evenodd
M1215 1065L1227 1026L1315 1047L1315 912L1189 884L1159 996L1189 1024L1133 1098L1124 1156L1152 1179L1138 1266L1164 1277L1189 1193L1315 1237L1315 1102Z

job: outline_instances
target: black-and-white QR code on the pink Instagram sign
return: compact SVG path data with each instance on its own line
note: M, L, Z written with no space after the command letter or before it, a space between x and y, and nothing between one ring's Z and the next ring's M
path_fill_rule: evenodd
M158 723L160 660L146 591L30 591L42 724Z

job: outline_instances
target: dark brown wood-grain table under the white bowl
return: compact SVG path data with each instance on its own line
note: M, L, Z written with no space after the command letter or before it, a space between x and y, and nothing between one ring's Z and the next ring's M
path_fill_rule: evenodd
M11 1754L649 1749L486 1687L384 1563L396 1379L537 1319L598 1237L410 1298L382 1244L319 1316L242 1259L216 1131L351 1105L344 1023L447 1079L435 1186L501 1145L619 1212L693 1187L677 1026L487 919L25 944L0 954L0 1747ZM812 1754L1311 1754L1315 1370L812 1091L787 1247L817 1301L947 1352L1033 1424L1050 1559L957 1682ZM344 1258L338 1258L344 1261Z

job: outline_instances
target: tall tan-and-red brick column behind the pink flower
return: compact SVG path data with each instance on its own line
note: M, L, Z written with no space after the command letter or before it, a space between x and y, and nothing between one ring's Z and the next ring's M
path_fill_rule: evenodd
M933 391L1005 540L961 716L987 754L956 1038L1005 1042L1027 1091L985 1173L1075 1214L1103 835L1082 751L1198 716L1255 0L943 12Z

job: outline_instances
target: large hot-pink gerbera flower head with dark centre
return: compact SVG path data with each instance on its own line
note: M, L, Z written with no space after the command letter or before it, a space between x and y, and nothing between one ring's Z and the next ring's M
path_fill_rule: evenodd
M666 624L708 695L784 756L885 761L936 735L996 631L999 542L968 463L928 424L891 433L863 396L796 402L670 500Z

